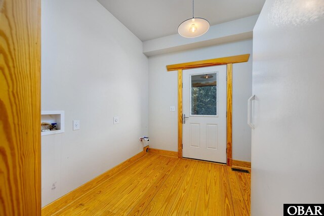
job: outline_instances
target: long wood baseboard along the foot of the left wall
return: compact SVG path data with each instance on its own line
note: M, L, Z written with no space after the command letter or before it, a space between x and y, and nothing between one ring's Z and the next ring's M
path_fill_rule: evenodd
M40 121L39 121L40 122ZM90 180L86 184L74 189L73 191L69 192L68 194L60 197L59 199L55 200L54 202L44 206L42 208L42 215L52 215L56 211L64 208L67 204L71 203L73 200L78 199L79 197L85 195L87 192L91 191L93 188L97 187L98 185L105 182L107 179L111 178L121 170L127 168L129 165L134 163L136 160L140 159L145 155L144 151L134 155L133 157L125 160L124 162L116 165L115 167L109 169L108 171L104 172L100 176Z

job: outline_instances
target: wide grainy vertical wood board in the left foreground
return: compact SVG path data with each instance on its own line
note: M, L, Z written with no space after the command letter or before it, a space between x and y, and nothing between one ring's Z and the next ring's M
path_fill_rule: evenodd
M41 215L41 1L0 0L0 215Z

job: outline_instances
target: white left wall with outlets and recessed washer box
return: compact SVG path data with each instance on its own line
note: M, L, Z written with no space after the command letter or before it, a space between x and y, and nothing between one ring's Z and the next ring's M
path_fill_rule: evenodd
M142 151L147 82L142 42L97 1L42 1L42 110L65 110L42 137L43 206Z

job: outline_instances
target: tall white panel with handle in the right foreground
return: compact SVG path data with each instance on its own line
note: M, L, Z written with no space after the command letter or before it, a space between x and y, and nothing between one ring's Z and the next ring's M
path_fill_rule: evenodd
M253 216L324 203L323 38L324 1L266 1L253 39Z

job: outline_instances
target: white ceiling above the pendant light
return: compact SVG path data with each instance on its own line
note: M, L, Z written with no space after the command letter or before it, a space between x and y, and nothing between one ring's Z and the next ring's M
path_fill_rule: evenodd
M142 41L176 34L192 17L192 0L98 0ZM265 0L196 0L194 16L211 25L259 14ZM107 23L109 25L109 23Z

